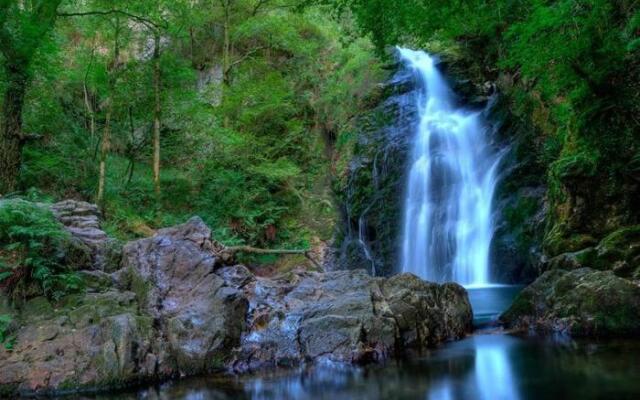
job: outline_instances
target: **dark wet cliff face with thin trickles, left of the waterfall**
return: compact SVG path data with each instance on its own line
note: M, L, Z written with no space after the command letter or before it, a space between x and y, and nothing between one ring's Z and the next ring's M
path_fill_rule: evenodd
M337 269L363 268L381 276L399 272L402 195L418 89L410 71L399 64L393 68L377 105L358 118L353 157L334 182L342 217Z

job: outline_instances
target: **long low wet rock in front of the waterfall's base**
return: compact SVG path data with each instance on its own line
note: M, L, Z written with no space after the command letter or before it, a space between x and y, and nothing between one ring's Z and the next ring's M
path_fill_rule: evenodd
M248 279L242 288L249 326L231 363L240 372L312 360L378 361L460 338L471 328L462 287L409 274L383 279L364 270L297 271Z

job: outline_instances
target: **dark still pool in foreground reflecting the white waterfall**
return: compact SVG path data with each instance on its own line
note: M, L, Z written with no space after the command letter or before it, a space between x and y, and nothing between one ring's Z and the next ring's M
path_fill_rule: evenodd
M424 357L367 368L330 365L187 379L102 400L455 400L640 398L640 342L476 335ZM79 398L76 396L75 398Z

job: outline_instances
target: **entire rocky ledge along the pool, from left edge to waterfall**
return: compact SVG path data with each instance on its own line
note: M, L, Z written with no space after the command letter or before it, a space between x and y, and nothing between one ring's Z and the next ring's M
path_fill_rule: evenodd
M358 270L263 278L228 260L193 218L127 244L115 272L86 272L85 293L27 301L13 349L0 349L0 394L319 360L366 363L471 330L467 294L456 284Z

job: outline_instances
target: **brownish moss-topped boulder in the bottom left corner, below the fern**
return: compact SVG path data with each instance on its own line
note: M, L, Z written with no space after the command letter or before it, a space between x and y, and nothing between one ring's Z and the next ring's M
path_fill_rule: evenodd
M13 348L0 346L0 397L107 388L153 376L152 319L135 295L72 296L53 308L38 297L23 308Z

